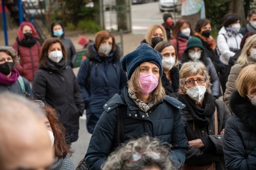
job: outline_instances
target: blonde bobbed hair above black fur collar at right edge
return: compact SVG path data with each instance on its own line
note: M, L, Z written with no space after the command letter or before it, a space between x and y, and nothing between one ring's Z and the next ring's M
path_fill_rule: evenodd
M256 64L244 67L236 79L236 88L241 97L246 97L251 86L256 86Z

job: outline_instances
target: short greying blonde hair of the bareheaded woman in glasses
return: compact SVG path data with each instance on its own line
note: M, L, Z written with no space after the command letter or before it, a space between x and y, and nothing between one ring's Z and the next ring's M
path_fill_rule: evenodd
M182 68L180 69L180 94L186 95L186 91L182 90L185 86L185 80L191 75L197 74L203 75L205 78L205 83L208 84L207 92L211 93L210 90L210 75L208 71L206 71L205 65L201 61L188 61L182 64Z

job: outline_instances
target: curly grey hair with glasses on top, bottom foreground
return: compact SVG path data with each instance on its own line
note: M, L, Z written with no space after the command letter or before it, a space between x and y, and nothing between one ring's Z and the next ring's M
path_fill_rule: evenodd
M156 152L160 158L151 158L142 154L143 152ZM129 141L119 150L112 152L102 165L102 170L139 170L152 167L158 167L162 170L176 169L169 158L170 152L171 145L169 143L161 143L156 138L143 136ZM134 154L141 154L141 158L130 161Z

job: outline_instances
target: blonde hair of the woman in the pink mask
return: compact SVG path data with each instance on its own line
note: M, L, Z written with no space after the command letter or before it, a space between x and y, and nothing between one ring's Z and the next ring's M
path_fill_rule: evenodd
M130 76L130 80L128 80L128 88L138 96L140 92L141 83L139 82L139 66L134 69L132 75ZM165 98L165 88L162 87L162 80L159 76L158 78L158 86L150 93L150 101L156 104L162 99Z

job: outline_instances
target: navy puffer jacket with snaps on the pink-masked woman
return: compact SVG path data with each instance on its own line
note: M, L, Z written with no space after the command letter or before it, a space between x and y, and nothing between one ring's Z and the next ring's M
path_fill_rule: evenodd
M85 155L89 169L100 169L107 156L118 146L117 107L122 108L125 140L147 134L171 143L173 148L170 158L174 163L182 165L185 161L187 143L180 109L185 105L173 97L166 96L163 101L150 108L147 116L128 97L127 88L123 96L124 99L115 95L104 105L104 112L91 136Z

